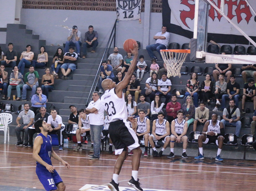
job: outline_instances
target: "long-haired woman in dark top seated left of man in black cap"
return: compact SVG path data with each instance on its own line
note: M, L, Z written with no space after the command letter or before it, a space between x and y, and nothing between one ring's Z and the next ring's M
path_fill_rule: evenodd
M65 59L63 50L62 48L58 48L52 59L52 74L54 79L58 79L58 71L60 70L64 61Z

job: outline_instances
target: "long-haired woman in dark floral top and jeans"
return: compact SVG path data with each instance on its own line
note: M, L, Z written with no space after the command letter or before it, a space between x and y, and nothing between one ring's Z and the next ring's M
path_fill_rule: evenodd
M194 72L191 74L190 80L186 83L186 93L185 99L187 96L194 97L195 107L198 107L198 91L199 91L199 81L198 75Z

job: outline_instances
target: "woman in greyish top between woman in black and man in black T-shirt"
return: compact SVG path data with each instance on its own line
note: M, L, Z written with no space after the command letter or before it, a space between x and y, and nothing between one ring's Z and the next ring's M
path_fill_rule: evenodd
M224 94L227 94L227 82L225 82L224 80L224 75L220 74L218 76L218 81L215 83L215 92L214 92L214 96L215 96L215 108L212 111L218 111L218 105L221 105L220 103L220 99L222 98L222 96Z

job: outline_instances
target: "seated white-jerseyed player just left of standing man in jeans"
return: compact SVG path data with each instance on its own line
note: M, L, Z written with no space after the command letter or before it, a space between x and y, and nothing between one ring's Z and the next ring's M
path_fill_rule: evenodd
M82 151L81 136L90 135L89 116L85 114L84 109L79 110L78 129L76 130L77 147L73 151Z

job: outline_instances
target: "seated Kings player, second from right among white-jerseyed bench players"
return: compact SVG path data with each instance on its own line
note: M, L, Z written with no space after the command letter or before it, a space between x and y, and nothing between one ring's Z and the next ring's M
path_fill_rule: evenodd
M188 145L188 137L186 136L186 132L188 130L188 123L183 119L183 111L180 109L177 111L177 119L172 121L171 124L171 132L172 135L170 137L170 148L171 153L167 158L172 158L174 156L174 143L183 142L183 153L181 155L182 158L187 159L186 148Z

